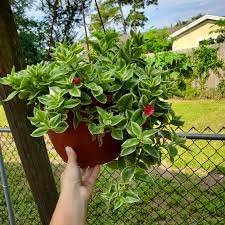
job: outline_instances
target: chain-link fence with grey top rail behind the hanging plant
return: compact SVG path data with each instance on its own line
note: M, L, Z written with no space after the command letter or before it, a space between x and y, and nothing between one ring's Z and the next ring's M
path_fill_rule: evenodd
M180 149L173 165L165 158L162 165L152 167L149 171L154 181L152 184L132 184L132 188L139 192L140 203L121 207L117 211L107 209L101 193L112 179L116 179L117 174L104 166L89 206L88 224L225 224L225 128L215 132L210 128L201 131L192 128L187 133L190 138L187 140L189 151ZM0 142L16 224L40 224L9 130L0 130ZM49 142L48 150L58 185L64 163ZM1 186L0 224L9 224Z

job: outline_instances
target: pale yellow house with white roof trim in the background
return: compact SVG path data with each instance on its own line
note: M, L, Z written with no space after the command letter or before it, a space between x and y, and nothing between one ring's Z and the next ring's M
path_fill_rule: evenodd
M215 23L225 17L205 15L175 31L170 35L174 40L173 51L179 51L189 48L197 48L199 42L209 38L217 38L217 33L211 33L218 27Z

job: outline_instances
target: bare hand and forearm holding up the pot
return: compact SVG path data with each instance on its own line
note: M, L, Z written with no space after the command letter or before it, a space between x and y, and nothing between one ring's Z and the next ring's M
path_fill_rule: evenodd
M50 225L84 225L100 167L80 169L75 151L66 147L66 153L68 162L61 175L61 194Z

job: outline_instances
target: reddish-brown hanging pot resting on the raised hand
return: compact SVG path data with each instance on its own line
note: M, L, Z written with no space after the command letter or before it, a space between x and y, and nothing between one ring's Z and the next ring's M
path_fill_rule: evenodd
M65 162L67 162L66 146L70 146L76 151L80 167L104 164L118 157L121 151L121 143L113 139L110 133L105 134L103 144L99 146L98 140L93 140L86 123L81 122L74 129L72 113L68 114L67 122L69 128L64 133L53 131L48 133L57 153Z

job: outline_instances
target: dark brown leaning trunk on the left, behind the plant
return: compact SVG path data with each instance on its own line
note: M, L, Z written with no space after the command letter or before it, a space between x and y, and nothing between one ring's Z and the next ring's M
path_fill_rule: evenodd
M24 66L19 50L18 35L8 0L0 1L0 76L9 73L15 66L20 70ZM0 98L5 99L11 88L0 85ZM53 178L46 146L43 138L32 138L33 126L27 119L32 112L25 102L15 98L3 102L3 107L12 130L26 177L41 217L48 225L57 202L57 190ZM26 221L24 221L26 223Z

